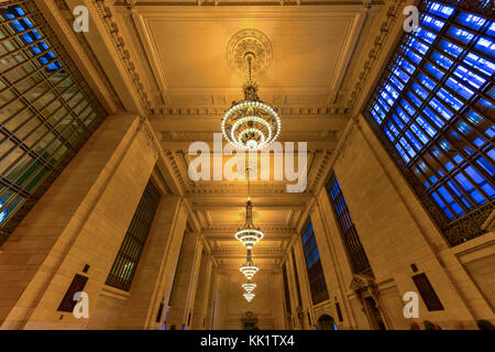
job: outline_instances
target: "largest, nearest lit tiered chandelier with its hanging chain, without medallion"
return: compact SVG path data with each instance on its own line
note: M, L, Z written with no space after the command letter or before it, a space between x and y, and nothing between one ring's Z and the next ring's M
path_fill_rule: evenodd
M257 85L251 79L255 55L244 55L249 64L249 79L244 85L244 100L233 102L222 119L223 136L242 150L262 150L276 141L280 133L277 110L257 96Z

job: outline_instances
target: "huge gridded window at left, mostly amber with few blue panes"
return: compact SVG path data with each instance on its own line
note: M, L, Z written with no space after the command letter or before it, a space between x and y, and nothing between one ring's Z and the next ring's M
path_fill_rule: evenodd
M0 6L0 245L107 113L33 0Z

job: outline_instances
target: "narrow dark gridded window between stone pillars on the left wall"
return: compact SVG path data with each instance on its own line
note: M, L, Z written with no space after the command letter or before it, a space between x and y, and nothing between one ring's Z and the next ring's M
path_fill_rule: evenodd
M144 244L146 243L156 209L158 208L160 198L160 191L150 182L144 189L134 217L108 275L107 285L123 290L131 288L132 278L134 277Z

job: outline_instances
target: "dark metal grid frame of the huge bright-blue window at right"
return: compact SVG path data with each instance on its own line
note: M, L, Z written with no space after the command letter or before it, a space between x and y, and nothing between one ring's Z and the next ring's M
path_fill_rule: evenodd
M405 178L407 179L407 182L409 183L410 187L414 189L415 194L418 196L418 198L420 199L420 201L422 202L424 207L426 208L426 210L428 211L428 213L430 215L430 217L432 218L432 220L437 223L437 226L439 227L439 229L442 231L443 235L446 237L446 239L448 240L448 242L450 243L450 245L458 245L461 244L470 239L476 238L483 233L485 233L485 231L482 229L482 226L484 223L484 221L486 220L486 218L491 215L491 212L493 211L494 208L494 204L495 200L494 199L490 199L488 195L486 195L486 193L477 185L476 182L474 182L471 176L465 172L465 168L469 166L472 166L476 169L476 172L479 172L481 175L484 176L484 178L492 184L492 186L494 186L492 177L480 166L476 166L476 161L480 160L481 157L484 157L488 163L492 164L493 166L493 161L490 160L490 157L487 157L486 153L484 152L484 150L487 150L490 147L490 145L494 143L493 139L490 139L484 132L479 131L479 129L473 125L466 118L464 118L464 113L468 110L474 110L476 113L479 113L480 116L482 116L484 119L486 119L488 122L493 120L491 120L491 118L484 112L482 111L477 106L476 106L476 101L481 98L486 99L488 101L491 101L492 103L494 103L494 99L491 98L488 96L488 91L493 88L493 77L487 77L486 75L483 75L483 73L480 73L479 70L476 70L475 68L465 65L463 62L463 58L466 57L468 54L470 53L474 53L475 55L488 59L491 62L493 62L493 58L488 58L490 55L487 55L486 53L476 51L474 48L474 45L476 43L476 41L480 37L485 37L488 36L486 34L487 28L491 23L490 15L493 16L494 14L494 8L490 7L490 4L487 4L488 2L486 2L486 6L482 6L479 4L477 7L471 7L470 6L470 1L450 1L450 0L436 0L435 2L437 3L441 3L441 4L446 4L446 6L451 6L454 8L454 13L452 13L449 19L444 19L441 16L436 15L435 13L428 12L427 9L429 7L429 4L433 2L433 1L429 1L429 0L424 0L420 3L420 12L421 14L428 14L429 16L440 20L444 23L443 28L438 31L435 32L431 29L427 28L426 30L429 32L432 32L433 34L437 35L437 37L435 38L435 41L432 42L432 44L427 43L426 41L424 41L421 37L419 36L413 36L408 33L405 33L399 42L399 44L397 45L396 52L394 53L394 55L392 56L391 61L388 62L388 64L385 67L384 73L381 76L380 82L376 85L375 89L373 90L373 94L365 107L365 110L363 112L365 119L367 120L369 124L371 125L372 130L375 132L375 134L377 135L377 138L381 140L382 144L384 144L384 146L387 148L388 153L391 154L392 158L394 160L394 162L397 164L398 168L400 169L400 172L403 173L403 175L405 176ZM455 19L459 14L459 12L468 12L468 13L473 13L475 15L480 15L482 18L485 18L487 21L486 23L481 26L477 31L468 26L462 25L462 23L455 22ZM474 34L473 38L471 40L470 43L464 44L460 41L457 41L453 37L450 37L449 35L447 35L447 32L449 31L449 29L451 28L451 25L459 28L461 30L466 30L470 33ZM409 41L409 38L414 37L416 41L421 42L422 44L428 46L428 51L425 55L418 53L415 48L410 47L407 45L407 42ZM458 57L453 57L452 55L450 55L449 53L446 53L443 51L441 51L439 48L439 42L443 40L447 42L450 42L459 47L461 47L463 50L462 54ZM413 63L407 56L405 51L411 51L415 54L419 55L421 57L421 61L419 63L419 65ZM452 61L452 65L449 69L444 69L443 67L439 66L436 62L433 62L430 57L431 54L433 52L437 52L441 55L443 55L444 57L449 58L450 61ZM398 59L405 59L407 61L408 64L414 65L416 70L413 75L410 75L409 73L407 73L407 75L409 76L409 79L407 82L405 82L404 80L402 80L398 76L394 75L392 72L395 67L399 67L397 65ZM440 69L443 73L443 77L441 77L441 79L437 79L433 75L429 74L424 65L428 63L431 64L433 66L436 66L436 68ZM482 76L483 78L486 79L486 82L479 89L475 89L475 87L469 87L470 89L472 89L474 91L474 95L468 100L464 97L462 97L461 95L454 92L449 86L446 85L446 81L452 77L455 78L457 80L460 80L459 77L453 75L453 72L459 67L459 66L463 66L465 68L468 68L471 72L474 72L476 75ZM404 69L403 69L404 70ZM430 80L433 81L433 84L436 85L433 87L433 90L430 90L428 87L425 87L420 80L417 78L418 74L422 74L424 76L426 76L427 78L429 78ZM398 89L398 87L396 87L396 85L389 79L391 75L397 79L402 85L404 85L404 89ZM397 92L399 92L399 97L394 101L394 105L391 107L387 105L388 111L384 109L384 107L382 106L382 103L378 101L377 97L380 97L380 91L382 90L382 88L386 85L391 85L394 89L397 90ZM411 88L413 84L417 84L420 86L420 88L425 89L427 92L429 92L428 97L426 99L422 99L421 97L419 97L415 90ZM465 81L463 81L463 85L465 85ZM446 105L438 96L437 92L440 89L444 89L447 90L447 92L449 95L451 95L452 97L454 97L455 99L458 99L463 106L461 107L461 109L459 109L459 111L455 111L454 109L452 109L449 105ZM416 108L416 105L413 103L413 101L410 101L409 97L407 97L407 92L414 94L421 102L421 106L419 108ZM446 121L446 119L441 118L441 116L435 110L435 108L432 108L429 102L431 101L431 99L436 98L437 100L439 100L440 102L443 102L444 108L447 108L450 113L452 113L452 118L449 121ZM409 112L402 108L399 105L399 101L404 99L407 101L407 103L409 103L413 108L415 108L415 114L410 116ZM373 116L371 114L371 110L373 109L374 105L378 105L381 107L381 109L383 110L383 112L385 112L385 118L383 118L383 122L381 125L377 124L377 122L375 121L375 119L373 118ZM396 107L399 106L400 110L407 116L407 118L409 118L409 122L406 123L398 114L397 118L400 119L400 122L403 122L405 124L404 129L397 129L397 131L400 131L398 136L396 136L394 139L394 142L391 142L388 140L388 138L386 136L385 132L383 131L383 127L386 125L386 123L389 121L394 124L395 128L397 128L397 125L395 124L394 120L392 119L392 114L396 112ZM435 124L435 122L432 122L429 117L426 113L422 113L424 108L429 107L429 110L432 111L437 118L440 118L441 120L443 120L444 125L439 129L438 125ZM437 134L435 135L435 138L431 138L424 129L421 125L419 125L419 123L417 123L417 118L420 117L421 119L424 119L425 121L427 121L436 131ZM476 133L479 133L480 136L484 138L487 142L482 145L482 146L476 146L473 143L471 143L471 141L469 139L466 139L462 133L460 133L457 128L455 124L463 122L465 123L469 128L471 128L473 131L475 131ZM406 139L409 143L409 145L415 150L416 155L413 157L410 155L409 157L409 162L406 162L403 160L403 157L399 155L399 153L396 151L395 145L400 145L397 141L400 140L400 138L405 138L406 132L410 132L413 134L413 136L415 139L417 139L417 141L421 144L422 141L419 141L419 139L417 138L417 135L413 132L413 130L410 129L410 125L415 123L415 125L429 139L428 143L426 145L424 145L422 150L417 151L414 146L414 143L409 142L408 139ZM461 147L459 147L458 144L451 142L451 140L449 140L447 138L447 135L451 132L454 131L458 133L458 135L464 141L464 143L466 145L469 145L473 152L471 154L466 154L464 153L464 151L462 151ZM441 146L439 145L439 142L446 140L449 142L449 144L451 145L451 147L453 150L457 151L457 153L459 155L462 156L463 161L458 165L458 163L455 163L449 155L448 153L441 148ZM447 156L447 158L452 163L452 165L454 165L454 167L452 167L451 169L447 169L444 167L446 163L440 162L432 152L432 150L437 147L439 148L443 156ZM407 151L404 148L405 153L407 153ZM425 158L425 155L428 155L429 157L431 156L431 160L435 161L435 163L437 163L438 165L436 167L432 167L432 165L430 165L430 163L428 162L427 158ZM431 185L430 187L426 187L422 185L421 180L415 175L414 168L415 168L415 164L422 162L425 163L429 170L435 174L435 176L438 178L438 180ZM418 169L421 173L421 176L429 180L429 177L427 177L425 174L422 174L422 170L420 167L418 167ZM443 173L443 176L440 176L438 174L438 170L441 170ZM458 180L455 179L455 176L458 176L460 173L462 173L462 175L471 183L471 185L486 199L486 202L483 205L479 205L474 199L472 199L472 196L470 195L470 193L468 193L466 189L464 189L464 187L462 187L461 185L459 185ZM492 182L491 182L492 180ZM430 183L430 182L429 182ZM471 204L471 206L473 206L472 209L469 209L464 202L462 201L462 199L455 194L455 191L452 189L452 191L449 191L450 196L454 199L454 201L457 202L457 205L459 205L462 210L464 211L463 215L458 216L457 211L454 211L451 208L451 204L449 201L447 201L442 195L440 194L439 188L446 186L448 183L452 183L454 186L457 186L458 190L461 191L461 196L462 198L465 198L469 200L469 202ZM451 188L450 186L448 186L449 188ZM448 208L448 210L451 212L451 215L453 216L453 220L450 220L447 215L443 212L443 210L441 210L439 208L439 206L437 206L437 204L433 201L433 199L431 198L431 194L436 193L437 195L441 198L441 200L443 201L443 204L446 205L446 207Z

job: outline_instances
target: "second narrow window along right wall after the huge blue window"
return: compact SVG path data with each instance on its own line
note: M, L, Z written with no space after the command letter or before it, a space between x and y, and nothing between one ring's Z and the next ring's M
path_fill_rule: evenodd
M321 266L320 253L318 252L311 220L308 219L305 229L301 241L305 250L309 288L311 290L312 304L318 305L319 302L329 299L327 282L324 280L323 267Z

